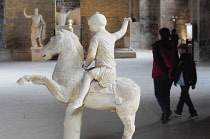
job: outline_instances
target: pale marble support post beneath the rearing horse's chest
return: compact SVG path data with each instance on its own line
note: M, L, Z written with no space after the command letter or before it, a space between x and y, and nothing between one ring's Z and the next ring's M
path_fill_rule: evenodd
M80 139L83 107L74 109L72 105L69 103L66 107L63 139Z

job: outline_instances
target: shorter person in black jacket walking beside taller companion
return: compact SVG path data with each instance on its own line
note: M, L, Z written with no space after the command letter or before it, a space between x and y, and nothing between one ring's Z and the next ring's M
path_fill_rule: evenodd
M183 106L186 103L189 107L189 120L193 120L197 119L198 115L190 99L189 89L190 86L192 87L192 89L195 89L195 84L197 81L195 62L192 59L192 56L188 53L188 46L186 44L181 44L178 47L178 51L180 54L180 58L177 68L177 77L175 78L174 84L180 85L181 96L174 112L177 116L181 116Z

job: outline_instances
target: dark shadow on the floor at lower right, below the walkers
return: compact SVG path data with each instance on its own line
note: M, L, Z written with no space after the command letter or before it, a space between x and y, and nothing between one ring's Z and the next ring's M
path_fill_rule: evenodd
M180 117L182 118L182 117ZM183 120L172 117L168 124L160 121L137 127L133 139L209 139L210 116L205 119Z

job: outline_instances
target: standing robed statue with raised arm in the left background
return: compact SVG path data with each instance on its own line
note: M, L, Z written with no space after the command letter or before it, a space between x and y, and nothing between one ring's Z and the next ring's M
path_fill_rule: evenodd
M34 9L34 15L27 15L26 8L24 8L24 16L26 18L32 19L32 25L31 25L32 47L38 47L37 39L38 39L39 45L43 47L42 41L45 39L46 24L44 22L42 15L38 14L38 11L39 11L38 8L36 8Z

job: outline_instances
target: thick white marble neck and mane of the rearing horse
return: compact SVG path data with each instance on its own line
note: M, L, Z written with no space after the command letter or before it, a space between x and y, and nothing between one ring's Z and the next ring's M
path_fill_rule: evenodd
M56 62L52 78L58 84L68 89L74 89L79 86L83 79L83 47L79 42L79 38L73 32L61 30L59 34L62 50Z

